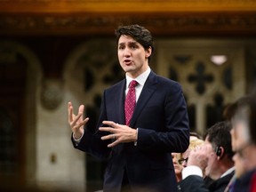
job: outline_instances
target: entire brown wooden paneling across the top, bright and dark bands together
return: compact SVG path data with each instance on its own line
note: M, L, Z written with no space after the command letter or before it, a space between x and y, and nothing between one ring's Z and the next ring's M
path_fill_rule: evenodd
M113 35L131 23L160 36L254 36L256 1L0 0L0 35Z

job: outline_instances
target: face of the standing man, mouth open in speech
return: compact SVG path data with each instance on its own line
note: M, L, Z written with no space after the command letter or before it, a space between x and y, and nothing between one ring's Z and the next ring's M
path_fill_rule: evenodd
M131 36L120 36L117 50L119 63L128 76L135 78L147 70L151 48L145 50Z

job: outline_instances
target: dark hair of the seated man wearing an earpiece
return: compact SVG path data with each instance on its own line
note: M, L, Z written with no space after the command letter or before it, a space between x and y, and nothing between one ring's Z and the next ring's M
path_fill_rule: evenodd
M231 145L231 128L232 126L229 121L221 121L213 124L205 134L214 149L217 147L224 148L224 154L226 154L230 160L232 160L232 156L234 156Z

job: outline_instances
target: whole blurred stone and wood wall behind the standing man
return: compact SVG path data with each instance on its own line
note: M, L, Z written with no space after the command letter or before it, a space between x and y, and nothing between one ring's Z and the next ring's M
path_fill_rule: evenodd
M124 78L114 32L128 24L155 37L150 67L182 85L191 131L252 92L254 0L0 0L1 191L102 188L106 163L73 148L67 103L94 129L103 89Z

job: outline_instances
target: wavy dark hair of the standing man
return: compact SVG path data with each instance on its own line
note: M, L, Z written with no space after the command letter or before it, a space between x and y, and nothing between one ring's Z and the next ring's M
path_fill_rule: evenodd
M150 31L140 25L119 26L116 31L116 42L119 41L120 36L132 36L137 42L139 42L145 50L151 47L154 51L154 41ZM150 57L148 58L149 61Z

